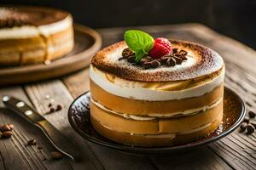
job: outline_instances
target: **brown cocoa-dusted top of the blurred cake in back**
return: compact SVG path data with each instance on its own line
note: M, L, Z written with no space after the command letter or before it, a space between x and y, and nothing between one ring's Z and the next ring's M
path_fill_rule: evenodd
M64 20L69 13L60 9L26 6L0 7L0 28L44 26Z

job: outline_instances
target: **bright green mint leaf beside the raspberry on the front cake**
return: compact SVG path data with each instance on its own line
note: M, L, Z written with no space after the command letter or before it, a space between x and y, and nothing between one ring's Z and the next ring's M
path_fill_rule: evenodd
M143 59L154 46L154 38L148 33L138 30L125 31L125 42L135 53L137 62Z

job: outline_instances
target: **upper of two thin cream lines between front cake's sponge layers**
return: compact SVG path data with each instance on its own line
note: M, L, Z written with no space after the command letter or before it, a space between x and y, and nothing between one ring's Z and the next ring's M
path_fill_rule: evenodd
M199 107L199 108L195 108L195 109L183 111L183 112L175 112L175 113L170 113L170 114L168 114L168 113L167 114L148 114L147 116L135 116L135 115L112 111L112 110L106 108L104 105L96 102L94 99L90 98L90 100L94 105L101 108L103 111L108 111L115 115L123 116L126 119L132 119L135 121L151 121L156 118L172 118L172 117L177 117L177 116L191 116L191 115L195 115L201 111L207 111L209 109L213 109L214 107L217 107L223 101L223 99L221 98L221 99L218 99L216 102L214 102L212 105L206 105L203 107Z

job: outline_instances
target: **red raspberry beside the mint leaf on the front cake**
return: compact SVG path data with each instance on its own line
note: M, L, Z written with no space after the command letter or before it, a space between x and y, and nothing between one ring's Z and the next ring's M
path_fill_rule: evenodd
M150 50L149 56L158 59L161 56L171 53L171 42L166 38L158 37L154 39L154 47Z

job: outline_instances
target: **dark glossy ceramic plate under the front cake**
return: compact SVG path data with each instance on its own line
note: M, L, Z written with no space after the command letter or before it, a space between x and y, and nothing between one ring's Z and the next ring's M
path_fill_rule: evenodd
M79 133L84 139L95 144L100 144L115 150L147 155L168 154L210 144L233 132L246 115L245 105L241 98L229 88L224 88L224 122L214 133L189 144L171 147L144 148L119 144L106 139L101 134L97 133L90 123L89 102L90 92L86 92L85 94L80 95L79 98L75 99L69 107L68 120L77 133Z

